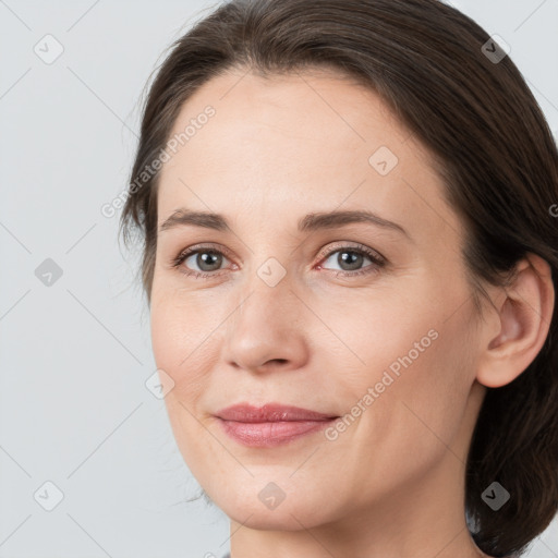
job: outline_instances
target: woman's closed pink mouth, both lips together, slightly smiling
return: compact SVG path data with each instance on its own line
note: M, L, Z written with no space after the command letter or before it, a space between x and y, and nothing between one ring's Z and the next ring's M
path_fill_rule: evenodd
M216 413L223 432L248 447L275 447L326 428L338 415L279 403L236 404Z

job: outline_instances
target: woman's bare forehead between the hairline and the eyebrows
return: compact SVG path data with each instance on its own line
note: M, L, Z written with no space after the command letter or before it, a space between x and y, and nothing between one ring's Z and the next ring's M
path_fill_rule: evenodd
M365 207L409 229L458 227L428 150L374 92L329 71L215 77L182 107L180 134L159 223L181 206L294 226L308 210Z

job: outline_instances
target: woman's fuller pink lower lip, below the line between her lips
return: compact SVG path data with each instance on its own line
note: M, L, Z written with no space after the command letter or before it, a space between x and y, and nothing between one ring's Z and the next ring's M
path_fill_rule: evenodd
M241 423L219 418L225 432L250 447L274 447L322 430L337 418L326 421L278 421L272 423Z

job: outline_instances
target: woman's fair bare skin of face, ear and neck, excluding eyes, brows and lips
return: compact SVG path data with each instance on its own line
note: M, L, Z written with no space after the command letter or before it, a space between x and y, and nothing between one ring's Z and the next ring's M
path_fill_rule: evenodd
M232 558L486 556L465 525L466 450L485 386L511 381L546 338L548 266L533 256L507 292L488 287L494 305L478 316L462 223L428 151L350 80L235 70L189 99L172 134L207 105L216 114L161 171L158 222L187 207L222 214L230 230L159 233L150 316L157 366L174 381L166 397L173 434L231 519ZM379 146L399 160L386 175L368 162ZM306 214L333 209L368 209L409 236L364 222L296 230ZM220 267L199 267L195 255L172 267L199 243L227 251ZM357 244L385 266L367 256L343 264ZM286 272L274 287L257 274L268 258ZM241 402L343 416L433 330L429 347L335 440L318 432L250 448L215 417ZM270 482L284 493L275 509L258 498Z

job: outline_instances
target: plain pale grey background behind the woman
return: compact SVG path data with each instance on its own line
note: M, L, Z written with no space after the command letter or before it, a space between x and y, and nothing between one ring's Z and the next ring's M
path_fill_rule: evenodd
M558 0L452 3L510 45L556 135ZM214 5L0 0L0 557L229 547L222 512L181 502L198 485L145 386L138 254L100 213L125 187L150 72ZM558 522L529 556L558 557Z

